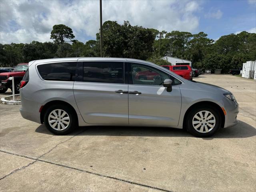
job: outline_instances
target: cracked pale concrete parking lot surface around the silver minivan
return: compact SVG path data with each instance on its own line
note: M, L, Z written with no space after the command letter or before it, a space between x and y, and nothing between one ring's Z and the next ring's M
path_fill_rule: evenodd
M55 136L23 119L19 105L1 104L0 190L255 192L256 81L231 75L194 80L233 92L240 123L210 138L111 126Z

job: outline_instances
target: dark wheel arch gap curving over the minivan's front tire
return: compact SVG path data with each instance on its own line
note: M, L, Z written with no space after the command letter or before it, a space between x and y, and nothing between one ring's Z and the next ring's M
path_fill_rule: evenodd
M187 120L187 117L188 117L188 114L189 112L198 107L198 106L212 106L214 108L216 108L218 110L218 112L220 113L220 116L221 116L221 127L224 127L224 124L225 124L225 115L224 115L224 112L222 110L222 108L214 103L214 102L211 102L211 101L200 101L200 102L196 102L194 104L192 104L187 110L186 110L186 113L184 115L184 118L183 118L183 128L186 127L186 120Z

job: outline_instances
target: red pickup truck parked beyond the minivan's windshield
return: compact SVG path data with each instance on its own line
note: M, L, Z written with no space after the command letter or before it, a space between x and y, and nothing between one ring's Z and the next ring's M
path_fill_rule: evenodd
M192 69L189 65L162 65L187 80L192 80Z

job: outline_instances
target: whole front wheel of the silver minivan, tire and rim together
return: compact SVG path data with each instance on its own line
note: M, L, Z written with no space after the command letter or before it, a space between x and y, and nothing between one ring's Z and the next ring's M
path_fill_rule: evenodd
M218 131L221 125L220 113L212 107L198 107L188 114L187 129L197 137L209 137Z

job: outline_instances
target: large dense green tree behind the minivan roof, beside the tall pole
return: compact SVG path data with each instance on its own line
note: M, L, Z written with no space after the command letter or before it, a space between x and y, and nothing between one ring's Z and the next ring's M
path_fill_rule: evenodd
M152 55L155 36L152 30L142 26L123 25L116 21L106 21L102 25L103 55L105 57L124 57L146 60ZM100 40L99 33L96 34Z

